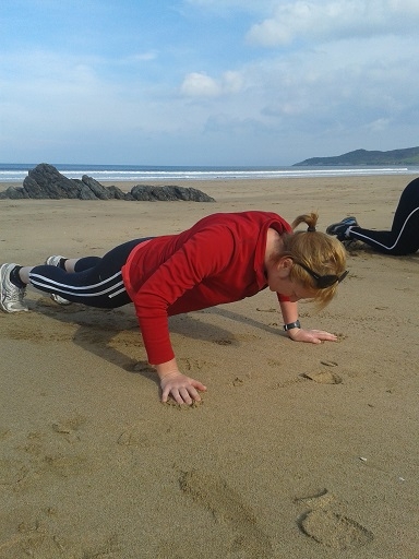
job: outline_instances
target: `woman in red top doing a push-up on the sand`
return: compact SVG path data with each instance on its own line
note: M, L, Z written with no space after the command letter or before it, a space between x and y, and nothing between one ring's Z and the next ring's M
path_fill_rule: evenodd
M268 287L276 293L284 330L296 342L320 344L336 336L302 329L299 299L321 307L347 275L346 251L316 231L318 214L298 216L292 226L272 212L217 213L175 235L135 239L103 258L52 255L44 265L0 267L0 307L27 310L28 284L60 304L117 308L133 302L148 361L160 380L161 402L199 402L206 386L183 374L170 343L168 317L234 302ZM307 230L294 231L306 223Z

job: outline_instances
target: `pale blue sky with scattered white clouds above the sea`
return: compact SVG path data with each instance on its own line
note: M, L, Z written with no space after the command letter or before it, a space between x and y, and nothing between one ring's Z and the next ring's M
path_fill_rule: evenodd
M418 0L1 0L0 163L419 145Z

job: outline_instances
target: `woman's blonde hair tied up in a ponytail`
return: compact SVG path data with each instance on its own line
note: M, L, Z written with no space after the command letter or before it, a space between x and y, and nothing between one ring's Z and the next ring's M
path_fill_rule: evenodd
M282 236L284 248L280 258L289 257L319 275L340 276L345 272L346 250L335 237L315 230L319 214L312 212L294 219L292 229L301 223L308 225L308 229ZM314 277L299 265L291 267L289 278L310 289L313 293L313 300L320 308L325 307L336 295L338 282L321 289L316 286Z

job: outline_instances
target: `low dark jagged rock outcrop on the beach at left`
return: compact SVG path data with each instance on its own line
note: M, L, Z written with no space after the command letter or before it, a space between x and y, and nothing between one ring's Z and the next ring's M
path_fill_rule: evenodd
M137 185L131 192L123 192L118 187L104 187L92 177L83 175L82 179L69 179L56 167L41 163L31 169L23 181L23 187L9 187L0 192L0 199L38 199L38 200L128 200L128 201L189 201L215 202L201 190L177 186L153 187Z

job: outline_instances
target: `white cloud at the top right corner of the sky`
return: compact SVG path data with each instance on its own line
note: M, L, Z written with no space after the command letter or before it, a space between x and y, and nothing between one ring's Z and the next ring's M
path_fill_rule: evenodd
M247 38L251 44L274 47L296 40L416 34L418 24L417 0L299 0L277 2L273 16L252 25Z

